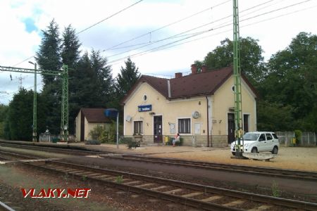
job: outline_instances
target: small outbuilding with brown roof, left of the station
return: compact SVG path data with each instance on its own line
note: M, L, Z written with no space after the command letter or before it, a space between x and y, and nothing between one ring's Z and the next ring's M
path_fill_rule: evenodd
M91 139L89 133L97 126L108 127L111 120L104 115L106 108L81 108L75 120L77 141Z

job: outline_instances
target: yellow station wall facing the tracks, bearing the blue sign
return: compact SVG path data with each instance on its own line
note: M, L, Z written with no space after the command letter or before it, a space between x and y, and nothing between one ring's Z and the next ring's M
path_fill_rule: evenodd
M144 95L147 95L147 101L143 101ZM148 112L139 112L138 106L142 105L152 105L152 110ZM132 120L131 122L124 121L124 134L132 135L133 122L143 121L144 135L153 135L154 115L149 115L149 113L154 112L155 115L162 115L163 135L174 135L178 132L178 118L191 119L191 134L184 135L188 136L194 134L195 123L201 124L200 134L206 135L206 110L206 97L204 96L168 101L149 84L142 83L125 103L125 117L130 115ZM192 113L194 111L200 113L198 119L192 118ZM170 133L170 124L175 124L175 133Z

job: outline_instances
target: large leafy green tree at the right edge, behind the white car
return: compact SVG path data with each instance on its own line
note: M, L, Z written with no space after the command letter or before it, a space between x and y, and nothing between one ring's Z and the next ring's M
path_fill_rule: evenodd
M267 101L293 108L293 128L317 132L317 36L301 32L283 51L268 61L268 75L261 84Z

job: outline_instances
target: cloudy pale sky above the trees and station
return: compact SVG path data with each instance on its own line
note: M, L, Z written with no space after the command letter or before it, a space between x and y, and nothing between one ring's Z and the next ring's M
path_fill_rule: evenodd
M317 34L316 0L240 0L239 11L240 36L259 39L266 59L299 32ZM1 0L0 66L33 68L28 61L53 18L61 32L76 29L82 52L101 51L113 77L128 56L144 75L187 74L194 60L232 39L232 0ZM33 84L34 75L0 72L0 103Z

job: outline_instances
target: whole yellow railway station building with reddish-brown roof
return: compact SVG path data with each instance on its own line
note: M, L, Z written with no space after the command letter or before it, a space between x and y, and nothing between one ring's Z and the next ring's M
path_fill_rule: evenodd
M256 90L242 75L244 132L256 131ZM164 143L180 134L184 146L228 146L235 136L235 86L232 67L173 79L142 75L121 101L125 137Z

